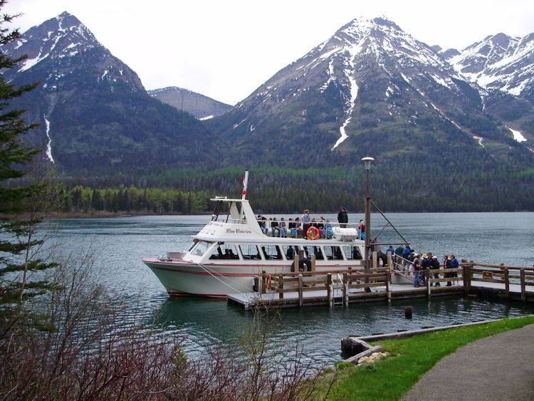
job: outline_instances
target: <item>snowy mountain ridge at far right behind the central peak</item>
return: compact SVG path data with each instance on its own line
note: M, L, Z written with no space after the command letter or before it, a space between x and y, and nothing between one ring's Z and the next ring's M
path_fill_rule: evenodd
M534 33L523 38L497 33L445 57L456 71L482 88L501 90L534 104Z

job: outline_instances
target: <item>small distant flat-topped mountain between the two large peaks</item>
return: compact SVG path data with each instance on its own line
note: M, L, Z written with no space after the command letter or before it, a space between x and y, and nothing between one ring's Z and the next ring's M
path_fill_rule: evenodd
M152 98L167 103L167 105L172 105L177 110L187 111L187 113L191 113L199 120L214 118L232 108L231 105L177 86L153 89L149 90L148 93Z

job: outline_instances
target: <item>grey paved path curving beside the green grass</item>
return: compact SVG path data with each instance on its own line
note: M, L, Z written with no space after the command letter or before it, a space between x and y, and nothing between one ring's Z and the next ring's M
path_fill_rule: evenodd
M534 325L459 348L426 372L402 400L534 400Z

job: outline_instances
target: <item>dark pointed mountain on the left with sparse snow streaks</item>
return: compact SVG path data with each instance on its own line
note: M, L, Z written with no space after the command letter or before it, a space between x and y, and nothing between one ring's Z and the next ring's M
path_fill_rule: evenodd
M28 56L2 73L16 84L40 83L15 105L28 110L28 121L41 123L31 142L67 172L107 175L187 165L209 157L207 145L216 142L197 119L151 98L135 71L67 12L0 51Z

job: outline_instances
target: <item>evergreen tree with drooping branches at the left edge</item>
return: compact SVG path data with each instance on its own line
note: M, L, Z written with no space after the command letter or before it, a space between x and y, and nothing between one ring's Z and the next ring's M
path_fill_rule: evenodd
M0 0L0 9L6 3ZM6 44L19 38L17 30L5 28L13 16L0 16L0 43ZM0 71L12 68L24 58L11 59L0 52ZM41 224L37 211L41 212L44 197L50 186L43 177L35 183L23 184L28 166L40 150L26 145L22 135L36 127L26 124L22 115L25 110L9 107L10 101L36 87L22 85L16 88L6 82L0 73L0 336L9 328L21 324L38 323L38 316L24 310L24 301L52 288L48 281L29 280L29 274L56 266L43 260L43 239L36 239L36 229ZM41 170L42 171L42 170ZM9 214L25 213L24 219L8 219Z

